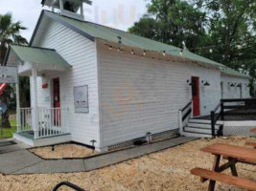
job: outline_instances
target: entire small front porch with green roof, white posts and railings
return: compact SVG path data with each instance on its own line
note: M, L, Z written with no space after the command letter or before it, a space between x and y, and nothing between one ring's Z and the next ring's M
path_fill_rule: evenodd
M9 50L7 65L17 67L19 75L30 77L31 107L20 107L19 86L16 85L17 132L13 138L31 146L69 141L69 109L60 105L59 78L53 78L58 79L55 84L48 85L46 82L46 87L39 87L38 81L52 80L50 76L53 75L61 76L70 69L70 65L55 50L16 45ZM38 104L38 100L42 99L37 97L38 91L45 91L45 96L49 97L47 104Z

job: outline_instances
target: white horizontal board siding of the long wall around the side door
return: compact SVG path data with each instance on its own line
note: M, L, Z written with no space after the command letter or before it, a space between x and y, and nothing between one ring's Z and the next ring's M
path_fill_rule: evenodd
M177 112L192 98L192 76L211 84L200 85L201 115L220 101L219 71L98 47L104 146L178 128Z

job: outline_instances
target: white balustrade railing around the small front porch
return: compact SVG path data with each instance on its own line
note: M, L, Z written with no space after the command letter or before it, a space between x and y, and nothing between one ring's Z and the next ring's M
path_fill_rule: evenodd
M20 109L18 132L33 132L35 138L48 138L69 133L67 125L68 109L64 108ZM35 117L35 115L37 117ZM33 120L37 120L33 126Z

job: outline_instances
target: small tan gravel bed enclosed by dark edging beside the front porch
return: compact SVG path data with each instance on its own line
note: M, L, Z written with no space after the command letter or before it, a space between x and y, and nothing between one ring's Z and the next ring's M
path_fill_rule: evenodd
M91 148L74 143L58 144L54 147L38 147L30 149L30 151L42 159L79 159L98 154Z

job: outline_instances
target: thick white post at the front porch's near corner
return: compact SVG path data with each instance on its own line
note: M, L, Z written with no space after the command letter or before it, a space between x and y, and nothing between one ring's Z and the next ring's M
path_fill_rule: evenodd
M36 83L36 77L37 77L37 71L36 68L33 67L32 69L32 85L33 85L33 90L32 90L32 97L31 97L31 102L32 102L32 127L35 133L35 138L39 137L39 128L38 128L38 104L37 104L37 83Z

